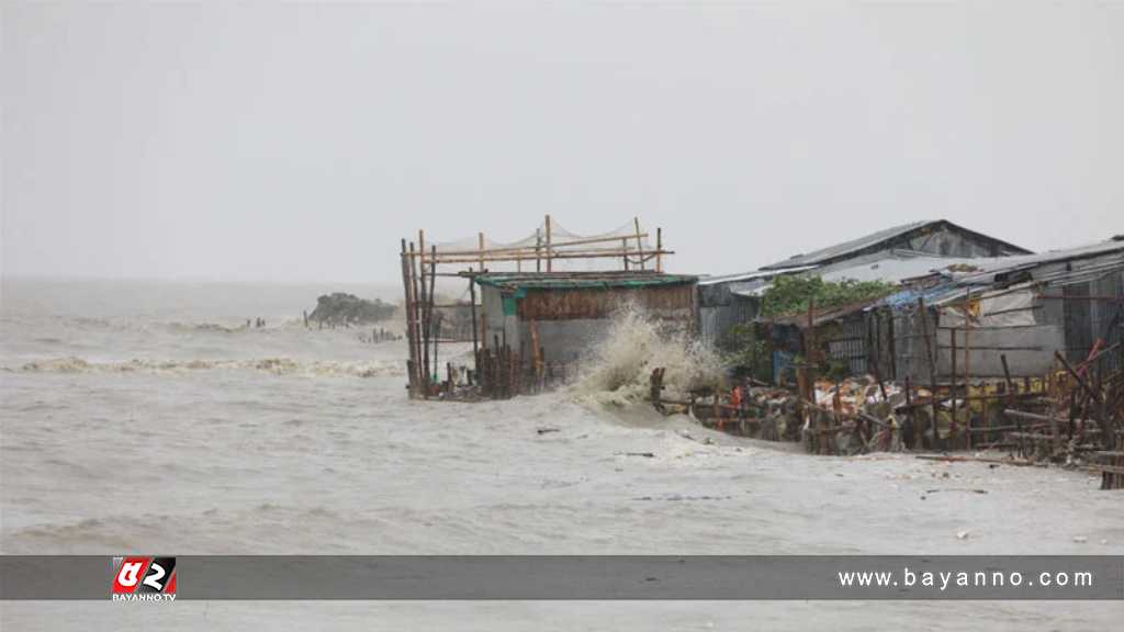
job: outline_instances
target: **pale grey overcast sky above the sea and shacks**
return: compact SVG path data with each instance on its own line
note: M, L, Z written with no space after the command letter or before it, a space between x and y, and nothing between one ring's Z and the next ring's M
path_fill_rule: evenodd
M1124 233L1124 3L2 4L2 272L395 282L638 215L682 272Z

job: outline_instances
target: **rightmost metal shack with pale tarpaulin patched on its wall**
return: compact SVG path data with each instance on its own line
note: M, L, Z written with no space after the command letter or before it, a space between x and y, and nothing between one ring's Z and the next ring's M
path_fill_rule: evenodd
M1043 376L1055 351L1077 362L1120 343L1122 310L1124 237L1116 237L946 267L865 310L864 319L870 361L881 373L928 383L934 371L939 382ZM1104 362L1115 370L1120 354Z

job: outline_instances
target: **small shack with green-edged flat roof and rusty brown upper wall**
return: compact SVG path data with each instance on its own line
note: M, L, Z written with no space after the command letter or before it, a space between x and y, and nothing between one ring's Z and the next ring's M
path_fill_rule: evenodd
M692 331L696 281L655 271L478 274L483 342L510 347L526 377L562 378L619 309L635 306L669 329Z

